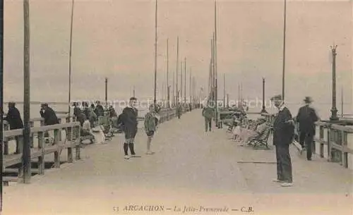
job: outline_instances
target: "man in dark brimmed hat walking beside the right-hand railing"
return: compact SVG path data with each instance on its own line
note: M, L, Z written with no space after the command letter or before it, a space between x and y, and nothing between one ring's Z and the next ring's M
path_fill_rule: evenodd
M305 97L304 102L305 106L299 109L296 121L299 123L299 143L302 149L306 148L306 159L311 161L315 122L318 121L318 116L316 111L310 106L313 99Z

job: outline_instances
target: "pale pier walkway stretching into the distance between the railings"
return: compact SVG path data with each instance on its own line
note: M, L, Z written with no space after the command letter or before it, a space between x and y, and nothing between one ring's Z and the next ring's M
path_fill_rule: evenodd
M282 188L272 182L274 150L239 147L226 129L205 133L196 109L160 125L155 154L145 154L143 130L140 158L124 159L124 135L89 145L78 161L4 187L2 214L353 213L349 169L317 155L306 161L292 146L294 186Z

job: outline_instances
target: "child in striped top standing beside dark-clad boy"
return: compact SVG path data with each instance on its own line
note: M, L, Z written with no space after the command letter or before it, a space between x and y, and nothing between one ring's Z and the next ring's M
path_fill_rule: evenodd
M145 115L145 132L147 135L147 152L146 154L154 154L150 151L150 145L153 135L155 135L155 130L157 129L158 120L155 113L155 106L150 105L149 112Z

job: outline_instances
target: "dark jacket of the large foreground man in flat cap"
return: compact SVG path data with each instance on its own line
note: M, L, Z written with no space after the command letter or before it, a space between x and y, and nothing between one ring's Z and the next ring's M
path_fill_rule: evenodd
M279 111L273 123L273 145L289 145L294 137L294 125L288 121L292 120L292 114L285 107Z

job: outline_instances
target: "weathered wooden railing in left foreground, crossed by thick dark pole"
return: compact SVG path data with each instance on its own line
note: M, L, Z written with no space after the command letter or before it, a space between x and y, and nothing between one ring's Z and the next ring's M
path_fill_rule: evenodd
M32 169L32 172L38 173L40 175L44 174L45 160L44 156L47 154L54 154L54 166L59 168L60 154L62 150L67 149L67 162L73 162L73 149L76 149L76 160L80 159L80 147L78 146L78 141L80 138L80 133L74 133L73 130L80 130L80 123L63 123L56 125L47 125L41 127L33 127L30 129L30 134L32 137L37 137L37 142L33 145L30 150L30 161L37 159L37 169ZM54 141L50 145L47 145L44 141L44 133L52 133ZM61 135L64 133L64 135ZM4 182L8 181L22 181L23 178L23 129L16 130L6 130L4 131L4 140L16 139L18 153L4 154L3 168L4 172L17 172L17 177L3 177ZM11 166L16 166L14 168L9 168ZM9 168L9 169L8 169ZM30 177L30 176L26 176Z

